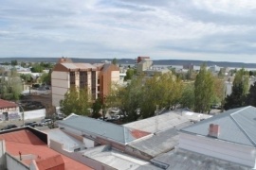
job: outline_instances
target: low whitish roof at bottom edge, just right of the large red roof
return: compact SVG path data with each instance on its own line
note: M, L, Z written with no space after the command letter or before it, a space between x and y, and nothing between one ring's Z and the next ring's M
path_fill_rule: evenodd
M130 169L130 170L153 170L160 168L155 167L149 161L143 161L118 150L112 149L108 145L101 145L97 148L88 149L83 156L91 158L95 161L100 161L103 164L115 169Z

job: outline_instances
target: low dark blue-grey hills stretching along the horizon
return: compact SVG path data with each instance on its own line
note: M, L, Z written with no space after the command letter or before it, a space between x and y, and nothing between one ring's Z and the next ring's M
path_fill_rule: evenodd
M0 62L10 62L11 60L17 59L17 61L26 61L26 62L57 62L60 58L0 58ZM77 59L71 58L74 62L88 62L88 63L99 63L103 60L112 60L112 59ZM200 66L204 62L210 65L217 65L220 67L237 67L237 68L256 68L256 63L243 63L243 62L226 62L226 61L210 61L210 60L183 60L183 59L158 59L153 60L155 65L185 65L193 64ZM134 64L135 59L118 59L119 64Z

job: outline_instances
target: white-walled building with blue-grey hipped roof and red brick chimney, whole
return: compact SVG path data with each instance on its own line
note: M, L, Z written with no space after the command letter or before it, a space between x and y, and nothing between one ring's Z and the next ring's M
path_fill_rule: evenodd
M179 148L256 168L256 108L228 110L180 131Z

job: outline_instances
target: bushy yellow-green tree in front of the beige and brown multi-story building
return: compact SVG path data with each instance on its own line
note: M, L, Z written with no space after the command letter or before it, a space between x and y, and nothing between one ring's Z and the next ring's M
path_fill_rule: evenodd
M90 114L90 97L86 89L77 90L71 87L67 93L64 94L64 99L60 101L62 112L65 115L76 113L79 115Z

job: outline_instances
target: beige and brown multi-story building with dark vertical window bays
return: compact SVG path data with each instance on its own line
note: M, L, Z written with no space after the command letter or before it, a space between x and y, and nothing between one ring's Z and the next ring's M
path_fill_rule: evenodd
M119 67L111 63L73 63L61 59L51 74L52 105L59 106L70 87L86 88L92 100L102 99L110 92L111 84L119 81Z

